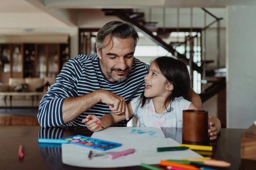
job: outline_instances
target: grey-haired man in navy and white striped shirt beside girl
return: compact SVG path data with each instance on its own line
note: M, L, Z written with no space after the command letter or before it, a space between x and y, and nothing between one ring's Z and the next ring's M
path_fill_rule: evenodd
M82 119L88 114L128 114L127 103L144 91L149 68L133 57L138 39L128 22L105 24L96 36L97 54L70 59L43 96L37 116L40 125L85 126ZM191 98L202 109L200 97L193 91Z

